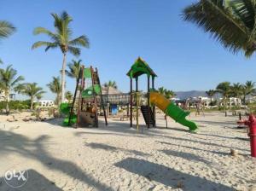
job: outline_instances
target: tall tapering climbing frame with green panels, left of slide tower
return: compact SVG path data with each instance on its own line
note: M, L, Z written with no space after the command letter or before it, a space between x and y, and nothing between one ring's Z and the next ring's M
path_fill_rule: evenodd
M108 125L103 104L102 87L97 68L82 66L79 71L71 106L61 104L61 113L66 114L63 125L77 127L98 127L98 108L103 109L105 124Z

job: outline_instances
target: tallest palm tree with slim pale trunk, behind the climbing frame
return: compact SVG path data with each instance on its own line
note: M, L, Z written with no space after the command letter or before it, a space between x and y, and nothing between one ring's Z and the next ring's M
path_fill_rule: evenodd
M79 56L81 49L79 47L89 48L89 40L86 36L82 35L79 38L72 38L72 30L69 27L70 22L73 20L67 12L61 15L51 14L55 20L55 32L50 32L44 27L37 27L34 34L46 34L51 39L51 42L38 41L32 45L32 49L45 46L45 51L48 49L60 48L63 54L63 62L61 68L61 102L65 99L65 72L66 72L66 59L67 52Z

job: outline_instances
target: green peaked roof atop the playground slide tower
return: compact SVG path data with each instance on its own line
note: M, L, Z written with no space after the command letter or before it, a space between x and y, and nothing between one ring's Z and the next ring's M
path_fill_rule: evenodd
M141 57L138 57L126 75L130 78L137 78L143 74L147 74L148 76L152 76L153 78L157 77L154 71L148 66L146 61L143 61Z

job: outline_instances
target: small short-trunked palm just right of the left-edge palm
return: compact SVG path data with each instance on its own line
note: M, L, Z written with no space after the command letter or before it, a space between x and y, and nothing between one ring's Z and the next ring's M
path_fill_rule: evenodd
M30 101L31 101L30 109L31 110L33 110L33 102L34 102L35 98L38 98L38 97L40 98L45 93L43 88L38 87L37 83L22 84L19 87L19 92L23 95L30 97Z

